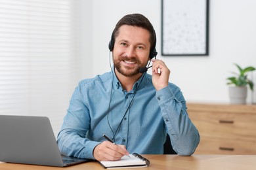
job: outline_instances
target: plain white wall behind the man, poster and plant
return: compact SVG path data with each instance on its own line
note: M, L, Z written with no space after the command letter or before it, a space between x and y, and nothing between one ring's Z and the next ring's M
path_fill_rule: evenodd
M188 102L228 103L226 77L236 71L233 63L242 67L256 66L256 1L210 1L209 56L161 56L161 1L156 0L93 0L83 1L89 31L83 55L90 66L83 70L89 78L110 71L108 42L116 22L125 14L144 14L154 25L158 36L158 59L163 59L171 69L170 82L177 84ZM88 19L91 16L91 19ZM88 61L88 62L86 62ZM151 71L151 70L150 70ZM256 84L256 73L254 73ZM256 88L256 87L255 87ZM248 103L251 92L248 92ZM256 94L254 92L254 102Z

